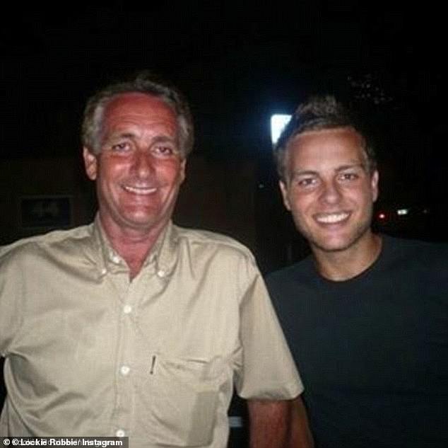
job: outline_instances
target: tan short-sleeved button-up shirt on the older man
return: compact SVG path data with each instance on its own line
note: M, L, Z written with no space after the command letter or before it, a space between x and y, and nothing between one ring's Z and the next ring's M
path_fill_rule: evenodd
M0 253L2 436L225 447L234 382L244 398L302 391L254 258L232 239L170 224L131 281L98 219Z

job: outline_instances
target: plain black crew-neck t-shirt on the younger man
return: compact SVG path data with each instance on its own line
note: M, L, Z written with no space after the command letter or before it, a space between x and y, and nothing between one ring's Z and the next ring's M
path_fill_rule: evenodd
M310 257L266 281L319 448L448 447L448 246L383 236L353 279Z

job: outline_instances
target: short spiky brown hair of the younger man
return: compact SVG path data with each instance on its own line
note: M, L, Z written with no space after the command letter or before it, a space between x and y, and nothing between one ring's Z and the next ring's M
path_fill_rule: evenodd
M288 144L299 134L309 131L350 127L364 140L367 169L373 173L377 168L377 158L370 136L365 132L357 115L334 96L312 96L295 110L288 125L281 133L273 148L278 175L285 180L285 155Z

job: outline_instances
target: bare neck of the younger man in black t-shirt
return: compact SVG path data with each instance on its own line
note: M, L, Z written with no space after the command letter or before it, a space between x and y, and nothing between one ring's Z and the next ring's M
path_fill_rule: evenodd
M322 277L335 282L360 275L375 263L382 248L380 236L370 231L344 251L313 250L314 263Z

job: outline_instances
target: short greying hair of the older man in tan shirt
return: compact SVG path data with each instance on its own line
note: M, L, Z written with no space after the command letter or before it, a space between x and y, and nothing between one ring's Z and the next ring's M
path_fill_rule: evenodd
M99 136L105 108L113 98L123 93L144 93L163 100L177 116L180 149L182 156L187 157L194 142L194 125L187 100L175 86L147 70L109 84L88 99L81 129L83 146L93 153L100 152Z

